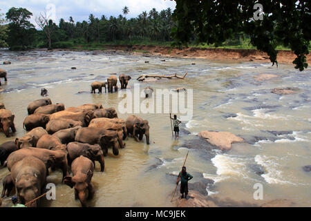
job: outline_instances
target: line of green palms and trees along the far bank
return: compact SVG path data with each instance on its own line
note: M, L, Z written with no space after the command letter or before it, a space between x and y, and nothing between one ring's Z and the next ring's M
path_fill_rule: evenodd
M174 23L171 8L158 12L153 8L144 11L138 17L126 19L129 8L122 9L118 17L95 17L89 15L88 21L75 22L60 19L55 23L45 12L35 17L37 30L30 23L32 12L26 8L10 8L3 18L0 15L0 47L8 46L11 50L29 48L63 48L66 44L88 44L93 42L115 43L122 41L171 41L170 33ZM7 21L7 24L4 24Z

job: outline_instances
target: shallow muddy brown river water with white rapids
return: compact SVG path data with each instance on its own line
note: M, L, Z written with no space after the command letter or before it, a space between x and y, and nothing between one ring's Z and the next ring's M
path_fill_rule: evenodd
M22 128L26 107L32 100L41 98L42 87L48 89L53 103L62 102L66 107L102 103L105 107L117 108L123 119L131 114L118 110L122 97L118 97L118 93L91 94L92 81L104 81L111 73L124 73L132 77L127 89L132 93L134 83L140 84L140 90L146 86L193 89L193 117L181 126L193 135L181 135L179 140L174 140L167 113L135 113L149 120L151 144L134 142L130 137L119 156L109 151L104 173L96 164L92 180L95 197L89 202L91 206L173 206L170 199L175 182L169 174L178 173L182 166L188 151L182 148L183 142L204 130L229 131L247 141L233 144L227 153L189 149L186 166L194 175L191 182L200 180L200 176L214 180L213 188L207 189L212 200L220 205L252 206L288 199L296 206L311 206L311 174L302 170L302 166L311 164L310 70L301 73L284 64L276 68L270 63L201 59L165 58L163 62L160 57L104 52L0 53L1 60L12 61L11 65L1 66L8 72L8 83L3 83L0 102L15 114L17 127L15 137L6 138L0 133L0 143L26 133ZM73 66L77 69L71 70ZM183 75L186 71L188 74L183 80L148 83L135 80L142 74ZM267 81L254 79L264 73L279 77ZM299 88L299 92L294 95L271 93L273 88L288 86ZM261 166L264 174L257 175L254 165ZM0 178L6 174L8 170L1 169ZM57 185L57 200L44 200L41 205L79 206L73 189L60 180L60 172L50 174L48 182ZM253 198L256 183L263 184L263 200Z

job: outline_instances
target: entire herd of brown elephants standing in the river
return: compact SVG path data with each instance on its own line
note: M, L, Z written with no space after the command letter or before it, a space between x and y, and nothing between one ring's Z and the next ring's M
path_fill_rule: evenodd
M0 69L0 77L7 81L5 70ZM130 79L120 75L121 89L126 88ZM102 93L103 87L106 92L106 86L109 93L117 91L117 77L93 82L91 93L96 89ZM19 203L27 206L39 206L39 200L34 199L44 193L46 177L55 169L62 171L62 182L74 189L75 199L87 206L87 200L95 193L91 182L95 161L100 162L103 172L108 148L112 147L113 154L118 155L130 135L137 142L145 135L149 144L147 120L135 115L126 120L117 118L115 108L104 108L102 104L65 108L64 104L52 104L44 97L30 102L27 111L23 128L28 133L0 145L1 169L7 167L10 171L3 178L1 198L15 189ZM6 137L16 132L14 119L15 115L0 103L0 131Z

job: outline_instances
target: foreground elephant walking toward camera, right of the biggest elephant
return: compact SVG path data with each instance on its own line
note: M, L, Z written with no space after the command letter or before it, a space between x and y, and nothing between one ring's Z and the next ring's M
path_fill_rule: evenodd
M82 207L86 207L86 200L93 198L95 193L91 183L94 164L90 159L81 155L71 164L71 171L73 171L73 177L66 176L64 183L75 189L75 200L79 199Z

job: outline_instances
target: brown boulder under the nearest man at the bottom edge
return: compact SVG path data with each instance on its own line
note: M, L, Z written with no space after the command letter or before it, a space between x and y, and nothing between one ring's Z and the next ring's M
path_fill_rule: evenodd
M187 199L178 198L175 202L176 207L216 207L214 202L207 200L207 196L200 194L198 191L191 191Z

